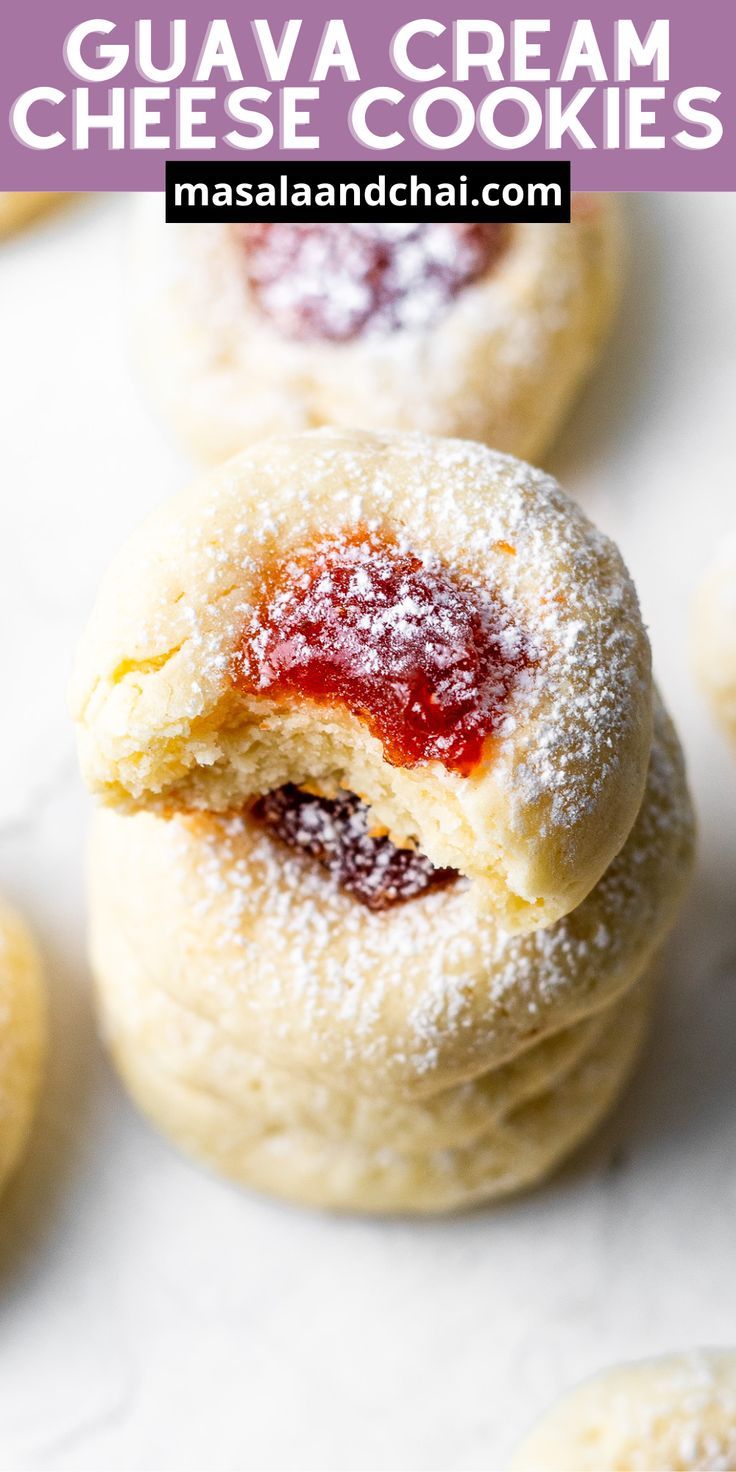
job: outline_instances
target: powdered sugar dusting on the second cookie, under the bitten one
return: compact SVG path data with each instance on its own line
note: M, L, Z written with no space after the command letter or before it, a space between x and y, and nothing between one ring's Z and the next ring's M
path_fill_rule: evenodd
M430 1079L447 1048L480 1072L633 982L677 904L692 818L661 717L626 849L571 916L524 936L478 920L464 886L368 914L247 817L172 821L165 841L175 913L208 927L200 980L225 1029L227 998L250 999L266 1051L296 1027L331 1075L359 1060L371 1076Z

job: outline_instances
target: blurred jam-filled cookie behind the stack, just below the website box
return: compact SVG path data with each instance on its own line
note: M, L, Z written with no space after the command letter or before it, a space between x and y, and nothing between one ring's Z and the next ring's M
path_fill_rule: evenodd
M534 459L595 362L618 275L605 194L578 194L568 225L165 225L153 197L132 306L150 392L205 459L322 424Z

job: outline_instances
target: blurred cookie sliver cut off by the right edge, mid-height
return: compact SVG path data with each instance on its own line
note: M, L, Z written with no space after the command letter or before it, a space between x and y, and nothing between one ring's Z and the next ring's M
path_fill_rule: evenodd
M702 581L695 662L715 718L736 746L736 539L726 543Z

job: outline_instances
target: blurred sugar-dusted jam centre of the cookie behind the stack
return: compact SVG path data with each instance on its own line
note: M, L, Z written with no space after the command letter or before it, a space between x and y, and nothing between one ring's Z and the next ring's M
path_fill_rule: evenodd
M263 315L284 337L333 342L431 325L508 240L493 222L234 228Z

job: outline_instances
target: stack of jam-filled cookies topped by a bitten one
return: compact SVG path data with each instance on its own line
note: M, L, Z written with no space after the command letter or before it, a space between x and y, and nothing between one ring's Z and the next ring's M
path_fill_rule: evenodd
M316 431L163 506L74 687L134 1098L222 1173L433 1211L609 1108L692 857L621 558L484 446Z

